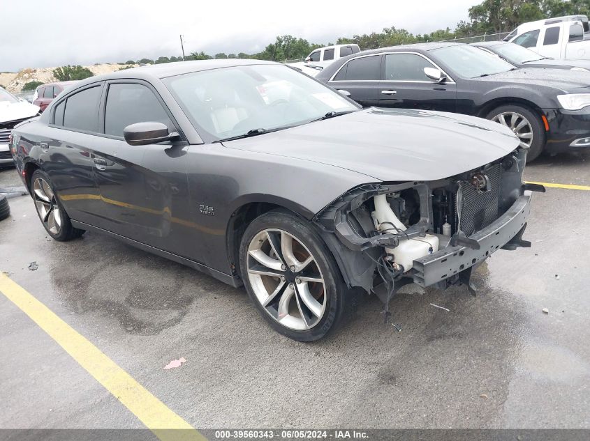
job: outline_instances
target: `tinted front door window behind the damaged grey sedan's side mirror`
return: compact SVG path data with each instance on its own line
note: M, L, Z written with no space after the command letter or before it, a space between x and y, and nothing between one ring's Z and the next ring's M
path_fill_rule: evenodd
M175 130L150 88L135 83L110 84L105 109L105 134L123 137L123 130L128 125L147 122L163 123L169 130Z

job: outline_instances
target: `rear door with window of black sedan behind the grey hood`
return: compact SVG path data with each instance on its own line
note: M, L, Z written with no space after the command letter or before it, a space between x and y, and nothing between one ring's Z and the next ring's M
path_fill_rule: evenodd
M350 59L328 82L338 90L351 93L351 98L362 107L378 105L382 54L363 55Z

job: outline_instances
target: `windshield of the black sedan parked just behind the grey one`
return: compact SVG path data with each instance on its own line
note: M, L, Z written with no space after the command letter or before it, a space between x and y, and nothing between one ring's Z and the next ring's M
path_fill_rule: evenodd
M510 63L473 46L447 46L433 49L431 53L464 78L485 77L515 69Z

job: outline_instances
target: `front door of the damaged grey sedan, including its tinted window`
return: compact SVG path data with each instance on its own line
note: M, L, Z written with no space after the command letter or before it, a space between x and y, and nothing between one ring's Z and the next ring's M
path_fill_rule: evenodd
M131 146L127 125L161 122L179 132L165 103L147 82L108 82L101 105L104 131L96 154L96 176L108 217L105 229L182 255L186 232L179 218L188 201L184 141Z

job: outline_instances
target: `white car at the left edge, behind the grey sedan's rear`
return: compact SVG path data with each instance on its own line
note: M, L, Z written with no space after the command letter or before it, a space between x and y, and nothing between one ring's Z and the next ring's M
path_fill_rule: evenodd
M0 166L13 163L13 157L8 149L8 137L13 127L38 114L38 106L20 100L0 87Z

